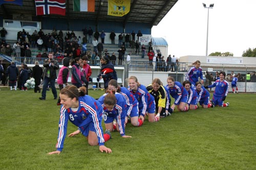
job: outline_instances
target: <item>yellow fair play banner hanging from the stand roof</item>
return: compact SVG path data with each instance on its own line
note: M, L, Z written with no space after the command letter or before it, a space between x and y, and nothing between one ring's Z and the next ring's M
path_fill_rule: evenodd
M123 16L130 12L131 0L108 0L108 15Z

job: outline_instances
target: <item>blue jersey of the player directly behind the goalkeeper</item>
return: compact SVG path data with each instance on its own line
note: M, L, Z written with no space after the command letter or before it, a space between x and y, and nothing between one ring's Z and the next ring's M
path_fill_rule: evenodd
M182 86L180 82L174 82L174 87L169 87L168 85L166 85L166 87L168 88L169 94L175 99L175 105L179 105L180 100L183 97L187 98L188 96L187 90ZM186 101L181 102L187 102L187 99Z

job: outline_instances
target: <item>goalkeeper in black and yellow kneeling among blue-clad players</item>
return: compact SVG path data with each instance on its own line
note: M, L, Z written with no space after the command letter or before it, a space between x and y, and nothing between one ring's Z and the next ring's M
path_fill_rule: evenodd
M168 112L167 96L165 88L161 85L160 79L154 79L151 85L146 87L147 91L152 94L155 98L156 112L160 114L160 117L169 116L171 113Z

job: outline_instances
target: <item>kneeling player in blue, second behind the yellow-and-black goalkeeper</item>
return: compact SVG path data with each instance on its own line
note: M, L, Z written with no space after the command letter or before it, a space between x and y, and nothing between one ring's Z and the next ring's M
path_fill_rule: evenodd
M189 81L184 81L182 83L182 85L183 85L183 87L185 87L185 89L187 90L187 93L188 93L187 104L189 106L189 109L196 110L198 108L198 106L197 106L197 99L198 99L197 92L191 86L191 83Z

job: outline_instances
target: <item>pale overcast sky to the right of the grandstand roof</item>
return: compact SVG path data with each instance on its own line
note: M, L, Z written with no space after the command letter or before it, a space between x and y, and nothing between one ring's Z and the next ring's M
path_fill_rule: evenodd
M244 0L179 0L152 28L153 37L168 43L168 55L205 56L207 15L209 7L208 55L230 52L241 57L248 48L256 47L256 1Z

